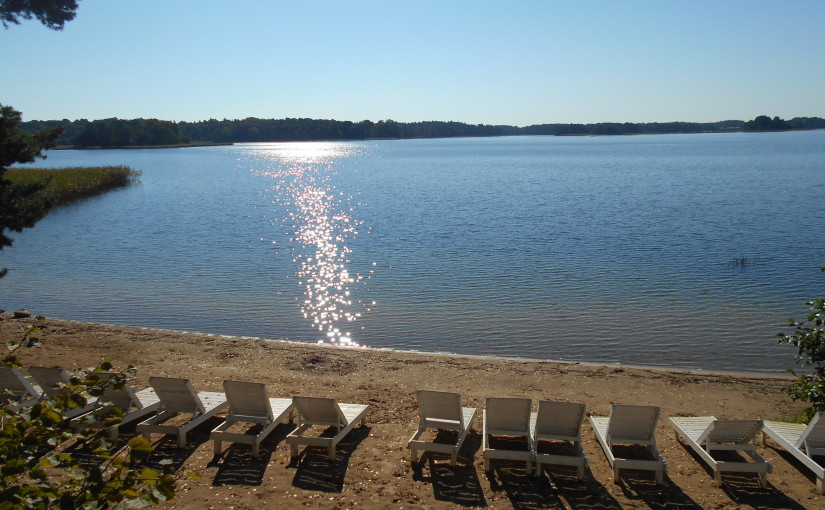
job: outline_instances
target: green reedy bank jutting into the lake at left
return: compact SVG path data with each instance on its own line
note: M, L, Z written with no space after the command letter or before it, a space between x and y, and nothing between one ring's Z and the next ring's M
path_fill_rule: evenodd
M10 168L4 177L14 184L44 184L38 192L51 206L68 204L135 182L139 170L127 166Z

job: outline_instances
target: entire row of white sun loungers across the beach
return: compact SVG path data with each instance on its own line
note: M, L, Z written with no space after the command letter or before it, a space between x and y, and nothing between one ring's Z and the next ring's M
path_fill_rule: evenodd
M61 368L30 367L36 384L13 367L0 365L0 385L5 388L5 404L15 409L33 405L42 398L53 398L69 375ZM101 378L106 373L97 374ZM151 439L152 434L172 435L177 445L186 445L186 436L193 428L219 413L226 417L215 427L210 439L215 455L223 442L250 445L257 456L261 442L274 428L297 415L296 427L285 439L293 458L300 446L322 447L335 459L338 443L358 424L363 424L369 405L344 404L331 398L294 396L270 398L262 383L224 381L224 393L197 392L188 379L151 377L149 388L135 391L131 386L106 388L95 402L65 413L75 429L103 428L104 419L114 407L123 419L107 427L111 437L117 437L119 427L141 420L136 430ZM418 429L407 442L415 465L421 452L446 454L455 465L458 452L473 428L477 410L464 407L458 393L419 390ZM488 398L483 410L482 455L485 470L493 460L521 461L528 473L539 476L547 465L576 468L581 479L587 467L587 455L582 447L581 427L586 406L581 403L541 400L532 412L529 398ZM149 415L152 416L149 416ZM590 416L590 424L618 483L622 470L646 470L654 473L657 483L663 481L667 463L656 446L655 431L660 409L655 406L614 404L610 416ZM718 420L706 417L671 417L669 422L676 436L713 471L721 483L722 473L756 473L761 486L767 484L771 464L757 451L757 439L771 437L790 452L817 478L817 488L823 492L825 468L813 457L825 455L825 420L817 414L808 425L763 420ZM187 418L188 416L188 418ZM183 419L181 419L183 417ZM260 427L249 433L244 425ZM313 427L334 428L334 434L315 435ZM455 440L430 438L433 432L454 433ZM429 435L428 435L429 434ZM426 437L425 437L426 436ZM514 447L514 445L516 445ZM729 451L744 454L731 460L719 460L714 452ZM633 452L628 454L628 452ZM638 455L641 452L642 455Z

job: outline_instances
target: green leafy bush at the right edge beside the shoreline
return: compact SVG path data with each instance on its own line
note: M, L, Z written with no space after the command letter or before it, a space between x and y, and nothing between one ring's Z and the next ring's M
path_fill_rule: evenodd
M825 271L825 267L822 268ZM802 370L791 370L796 380L786 391L794 400L810 403L804 418L825 411L825 299L805 303L809 307L807 320L788 319L793 331L780 333L779 342L797 348L794 355Z

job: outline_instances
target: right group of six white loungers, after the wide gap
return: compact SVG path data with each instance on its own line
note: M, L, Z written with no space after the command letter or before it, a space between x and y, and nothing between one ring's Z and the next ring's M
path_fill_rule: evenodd
M472 428L476 410L462 407L456 393L419 390L417 393L421 416L419 427L408 442L413 463L421 450L446 453L455 464L458 450ZM528 398L488 398L483 411L482 455L484 468L490 470L490 461L505 459L523 461L528 472L540 475L545 465L573 466L579 478L587 467L587 455L582 448L581 425L586 412L585 404L541 400L538 411L531 412ZM667 462L656 446L656 426L660 409L656 406L614 404L610 416L591 416L590 424L601 445L610 467L613 480L618 483L622 470L644 470L654 473L661 483ZM825 413L817 414L808 425L763 420L718 420L713 416L671 417L669 422L676 436L713 471L721 483L722 473L756 473L759 484L767 485L771 464L757 452L757 440L762 435L771 437L790 452L802 464L811 469L817 478L817 488L823 493L825 468L814 456L825 455ZM427 428L453 430L458 433L455 443L422 441ZM503 436L510 440L521 439L519 448L494 447L493 441ZM548 453L542 443L562 443L564 453ZM641 450L643 455L632 454ZM728 451L737 454L731 460L718 460L714 452ZM627 452L627 453L625 453ZM749 458L743 458L744 454Z

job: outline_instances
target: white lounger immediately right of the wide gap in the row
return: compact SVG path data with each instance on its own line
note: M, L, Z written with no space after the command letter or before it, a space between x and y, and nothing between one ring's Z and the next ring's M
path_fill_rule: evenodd
M473 428L476 416L474 407L461 407L461 395L444 391L418 390L418 430L407 442L412 463L418 462L418 452L423 450L450 455L450 465L455 466L458 451ZM458 433L455 444L422 441L421 436L428 429L453 430Z

